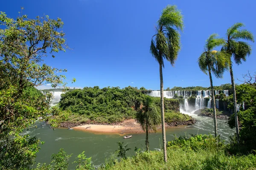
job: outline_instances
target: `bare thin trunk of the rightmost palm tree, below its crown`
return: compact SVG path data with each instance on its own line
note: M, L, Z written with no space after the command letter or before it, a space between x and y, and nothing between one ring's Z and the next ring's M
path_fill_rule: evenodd
M232 90L233 90L234 114L235 114L235 122L236 122L236 138L237 138L237 144L239 144L239 125L238 125L238 117L237 117L237 109L236 109L236 86L234 81L232 64L230 64L230 76L231 76L231 84L232 84Z

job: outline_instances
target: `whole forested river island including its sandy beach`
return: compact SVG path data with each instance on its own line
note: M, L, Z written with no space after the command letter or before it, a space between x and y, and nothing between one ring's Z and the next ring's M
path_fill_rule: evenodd
M147 92L144 87L84 87L84 89L70 89L61 94L58 105L52 107L53 116L47 121L53 127L78 127L100 132L140 132L140 124L135 121L136 115L145 103ZM153 98L154 104L160 112L160 98ZM180 113L177 99L165 99L166 126L191 125L195 120ZM110 125L106 126L95 126ZM82 126L84 125L84 126ZM160 129L160 127L158 128Z

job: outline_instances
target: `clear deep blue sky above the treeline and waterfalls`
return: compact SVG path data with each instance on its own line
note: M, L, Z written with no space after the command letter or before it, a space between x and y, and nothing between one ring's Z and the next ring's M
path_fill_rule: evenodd
M164 89L173 86L210 86L209 77L198 67L197 59L205 40L212 33L224 37L236 22L256 35L256 1L254 0L6 0L0 11L16 17L23 6L29 18L49 15L64 21L63 31L72 50L48 57L45 63L66 68L68 86L144 86L160 89L159 65L149 53L157 20L168 4L177 5L184 16L182 49L175 67L165 63ZM253 52L241 65L234 65L234 77L242 79L247 70L256 72ZM213 78L213 85L230 83L230 74Z

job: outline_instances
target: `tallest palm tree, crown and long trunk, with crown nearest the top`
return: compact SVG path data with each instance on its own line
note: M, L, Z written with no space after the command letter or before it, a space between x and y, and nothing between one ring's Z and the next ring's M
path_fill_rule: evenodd
M166 134L163 105L163 72L164 59L174 66L180 51L180 34L177 30L183 30L183 16L177 6L167 6L163 9L160 19L157 21L157 34L152 37L150 52L159 63L160 69L160 96L161 96L161 119L163 135L163 158L167 162Z

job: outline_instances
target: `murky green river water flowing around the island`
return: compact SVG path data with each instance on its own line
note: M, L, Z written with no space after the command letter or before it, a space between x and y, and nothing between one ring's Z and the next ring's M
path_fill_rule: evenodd
M214 134L213 119L208 117L199 117L194 114L189 114L196 119L196 124L186 127L172 127L166 129L166 140L172 140L175 135L187 135L189 134ZM92 157L93 164L97 167L105 162L105 158L114 153L117 150L118 141L123 141L124 144L128 144L128 156L134 154L134 148L138 147L142 150L145 148L145 133L140 134L111 134L111 133L92 133L81 130L67 130L65 128L59 128L52 130L45 122L37 122L37 128L32 127L24 134L30 136L37 136L41 141L45 141L44 145L41 145L41 150L37 154L36 163L50 163L50 157L52 153L58 153L61 148L67 152L67 154L73 154L70 158L69 169L75 169L75 165L72 162L76 156L83 151L87 157ZM226 120L218 120L218 134L225 140L234 133L228 127ZM132 135L132 138L123 139L124 135ZM159 150L162 144L161 131L157 133L149 134L149 146L150 150Z

